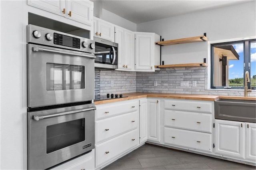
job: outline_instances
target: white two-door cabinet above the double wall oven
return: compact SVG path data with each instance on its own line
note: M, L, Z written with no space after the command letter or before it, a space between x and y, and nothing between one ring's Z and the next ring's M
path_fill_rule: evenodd
M93 2L89 0L28 0L28 5L92 26Z

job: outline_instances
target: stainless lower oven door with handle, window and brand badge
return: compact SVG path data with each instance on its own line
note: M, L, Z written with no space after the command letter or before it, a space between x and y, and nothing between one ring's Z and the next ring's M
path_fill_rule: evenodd
M28 112L28 169L46 169L94 148L94 104Z

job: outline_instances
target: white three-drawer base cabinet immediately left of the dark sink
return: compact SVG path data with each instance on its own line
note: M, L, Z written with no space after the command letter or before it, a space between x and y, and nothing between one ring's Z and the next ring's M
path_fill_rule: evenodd
M164 144L212 152L213 101L164 99Z

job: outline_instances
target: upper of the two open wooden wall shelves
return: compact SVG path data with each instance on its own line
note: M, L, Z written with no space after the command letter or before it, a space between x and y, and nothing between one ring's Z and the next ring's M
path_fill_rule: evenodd
M176 40L155 42L155 44L164 46L164 45L174 45L174 44L180 44L180 43L205 42L207 40L208 39L206 36L197 36L197 37L182 38L182 39L176 39Z

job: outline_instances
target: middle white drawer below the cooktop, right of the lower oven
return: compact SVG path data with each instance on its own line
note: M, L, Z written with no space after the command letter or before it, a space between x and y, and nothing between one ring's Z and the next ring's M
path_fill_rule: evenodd
M135 111L101 121L95 121L95 143L131 130L132 128L137 128L139 125L138 117L139 113Z

